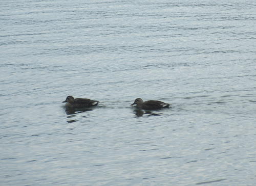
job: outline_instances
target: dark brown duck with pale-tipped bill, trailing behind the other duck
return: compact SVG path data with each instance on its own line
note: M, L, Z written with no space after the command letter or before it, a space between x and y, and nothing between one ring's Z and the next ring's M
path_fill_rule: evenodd
M155 101L155 100L148 100L143 102L141 98L135 99L134 103L131 105L136 104L137 108L144 109L144 110L156 110L161 108L168 108L170 104L164 103L162 101Z

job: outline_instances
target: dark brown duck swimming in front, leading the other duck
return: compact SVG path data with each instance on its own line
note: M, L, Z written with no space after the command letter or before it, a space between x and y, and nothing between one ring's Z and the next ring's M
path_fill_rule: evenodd
M71 109L89 108L96 106L99 103L99 101L87 98L74 98L73 96L68 96L65 101L62 101L62 103L63 102L67 102L65 106Z

